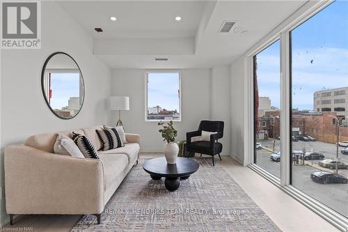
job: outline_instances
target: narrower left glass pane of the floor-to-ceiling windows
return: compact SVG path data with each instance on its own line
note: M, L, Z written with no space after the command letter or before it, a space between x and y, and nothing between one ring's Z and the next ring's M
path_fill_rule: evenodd
M255 127L255 164L280 177L280 41L277 40L254 56L254 125L264 111L272 112L272 127ZM265 123L265 122L264 122ZM279 125L279 126L278 126ZM269 137L268 137L269 136ZM256 146L261 144L262 146Z

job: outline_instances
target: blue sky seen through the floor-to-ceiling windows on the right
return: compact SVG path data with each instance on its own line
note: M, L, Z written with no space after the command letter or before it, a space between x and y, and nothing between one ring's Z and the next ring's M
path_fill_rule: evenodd
M313 110L313 93L348 86L348 1L335 1L292 36L292 108ZM259 95L280 107L280 42L257 55Z

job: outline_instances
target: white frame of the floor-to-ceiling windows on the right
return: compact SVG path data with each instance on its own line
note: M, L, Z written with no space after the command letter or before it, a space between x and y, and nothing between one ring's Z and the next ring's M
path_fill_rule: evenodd
M294 199L308 207L317 215L326 219L329 223L336 226L338 229L345 231L348 228L348 219L340 213L335 212L314 199L313 197L301 192L292 186L292 169L290 165L291 150L292 150L292 95L291 95L291 31L297 26L303 24L311 17L319 13L319 11L326 8L333 3L333 0L329 1L308 1L303 4L287 18L284 22L279 24L273 31L267 36L264 36L259 42L257 42L251 49L244 53L244 114L250 117L244 117L244 165L250 167L253 171L260 174L271 183L279 187L281 190L292 196ZM276 178L274 175L269 173L267 170L258 167L255 164L255 127L254 127L254 105L250 102L254 102L253 95L253 56L258 54L260 51L271 45L277 38L280 37L280 75L281 75L281 100L280 100L280 127L283 130L280 132L282 141L280 144L280 151L283 154L284 159L280 160L280 178ZM253 138L253 139L248 139Z

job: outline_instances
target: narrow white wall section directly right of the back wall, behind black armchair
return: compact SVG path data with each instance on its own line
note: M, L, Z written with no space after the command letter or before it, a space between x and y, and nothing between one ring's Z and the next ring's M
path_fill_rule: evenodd
M221 155L230 155L230 65L214 66L212 68L212 120L223 121L224 131L221 143Z

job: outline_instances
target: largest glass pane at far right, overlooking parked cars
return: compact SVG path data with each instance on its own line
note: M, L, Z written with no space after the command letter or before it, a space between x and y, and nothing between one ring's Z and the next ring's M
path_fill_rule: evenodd
M292 185L348 217L348 2L331 3L290 36Z

